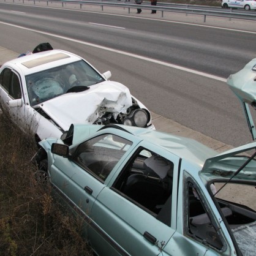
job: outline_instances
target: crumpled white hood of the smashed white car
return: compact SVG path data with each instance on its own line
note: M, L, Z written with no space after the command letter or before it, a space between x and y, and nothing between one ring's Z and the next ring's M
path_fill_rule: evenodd
M70 92L37 105L63 130L70 124L93 124L105 112L126 113L132 106L129 89L115 81L89 86L83 92Z

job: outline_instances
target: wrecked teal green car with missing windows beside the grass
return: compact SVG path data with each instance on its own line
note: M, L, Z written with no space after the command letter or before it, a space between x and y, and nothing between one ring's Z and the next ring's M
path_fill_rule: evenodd
M218 154L132 126L72 125L40 142L41 178L96 255L255 255L256 143Z

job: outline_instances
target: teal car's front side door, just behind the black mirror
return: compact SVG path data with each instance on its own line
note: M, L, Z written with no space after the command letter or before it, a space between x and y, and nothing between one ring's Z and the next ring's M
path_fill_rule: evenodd
M88 224L95 226L90 215L97 195L131 145L116 135L102 134L71 149L75 150L72 159L55 156L50 167L51 183L74 213L85 220L84 236L87 236Z

